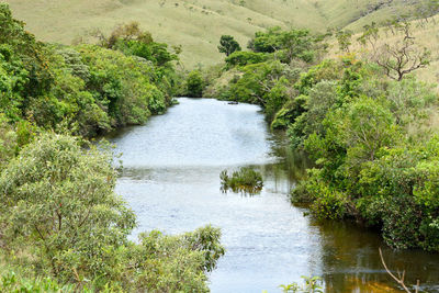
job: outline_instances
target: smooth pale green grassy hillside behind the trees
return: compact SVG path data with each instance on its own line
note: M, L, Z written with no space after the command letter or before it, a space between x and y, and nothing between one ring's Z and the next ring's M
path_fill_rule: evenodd
M269 26L362 27L407 11L406 0L0 0L41 40L71 43L92 29L111 31L116 24L138 21L154 37L182 45L187 67L219 60L217 43L234 35L246 46L256 31Z

